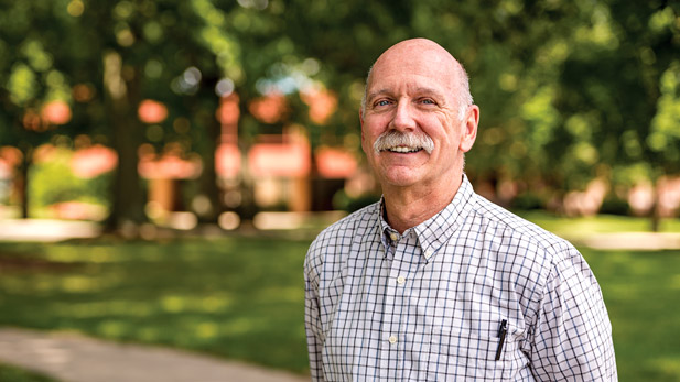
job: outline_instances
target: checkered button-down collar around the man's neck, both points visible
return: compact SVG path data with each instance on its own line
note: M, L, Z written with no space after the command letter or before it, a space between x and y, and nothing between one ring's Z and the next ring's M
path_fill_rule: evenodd
M473 195L472 184L467 176L463 174L463 181L453 200L430 219L410 228L410 230L414 230L418 237L418 242L425 261L435 255L442 245L449 241L453 232L463 225L472 210L471 199ZM377 212L379 214L381 242L388 249L392 243L390 236L398 232L385 220L385 197L380 198L380 208L377 209Z

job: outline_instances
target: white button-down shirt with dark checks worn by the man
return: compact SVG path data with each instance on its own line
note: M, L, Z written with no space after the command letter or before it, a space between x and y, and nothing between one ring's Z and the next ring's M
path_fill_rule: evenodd
M617 379L600 286L570 243L465 176L446 208L403 234L380 206L328 227L307 252L314 381Z

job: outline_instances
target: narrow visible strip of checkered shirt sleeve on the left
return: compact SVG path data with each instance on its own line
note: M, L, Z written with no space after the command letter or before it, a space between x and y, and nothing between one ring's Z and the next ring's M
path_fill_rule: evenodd
M323 381L322 364L322 329L319 306L319 277L311 266L310 253L304 264L304 326L307 338L307 351L310 357L310 372L312 381Z

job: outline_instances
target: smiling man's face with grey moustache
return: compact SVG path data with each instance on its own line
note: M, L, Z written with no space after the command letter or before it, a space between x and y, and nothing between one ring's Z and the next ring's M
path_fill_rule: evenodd
M411 44L413 45L413 44ZM472 148L478 111L460 119L453 57L438 50L399 45L386 52L373 68L361 111L361 146L384 186L431 185L460 176L463 153ZM427 135L431 152L421 144L374 144L384 133Z

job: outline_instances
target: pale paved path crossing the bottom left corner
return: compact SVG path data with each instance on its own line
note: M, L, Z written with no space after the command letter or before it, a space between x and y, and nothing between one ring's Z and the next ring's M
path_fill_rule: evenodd
M63 382L302 382L283 371L74 334L0 329L0 362Z

